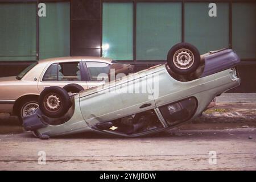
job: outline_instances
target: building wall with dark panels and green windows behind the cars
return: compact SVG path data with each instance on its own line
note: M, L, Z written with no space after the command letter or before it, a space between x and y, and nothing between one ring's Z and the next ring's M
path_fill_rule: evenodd
M17 75L32 61L47 56L69 55L111 57L123 63L135 64L135 69L139 71L164 63L166 57L164 53L167 53L175 43L183 41L195 44L200 53L222 47L235 49L242 58L241 64L238 65L242 82L241 86L230 92L256 92L256 84L254 84L256 1L254 0L214 1L217 4L217 17L212 18L203 16L208 13L208 9L205 8L211 2L208 0L29 2L34 3L30 6L35 7L40 2L46 2L49 7L47 13L59 19L43 19L35 16L36 32L32 35L32 48L29 47L32 49L31 59L16 55L6 58L5 52L1 52L0 47L0 77ZM0 2L0 9L6 3L10 4L10 1ZM3 22L3 18L7 18L3 17L6 14L3 13L0 22L1 19ZM65 19L65 22L61 23L60 19ZM58 23L52 27L54 22ZM164 27L165 25L167 26ZM0 27L4 27L3 23ZM40 31L40 28L48 30L48 34L47 32L43 34L44 31ZM46 41L43 41L45 38ZM4 44L0 42L3 47ZM59 49L55 50L56 47Z

